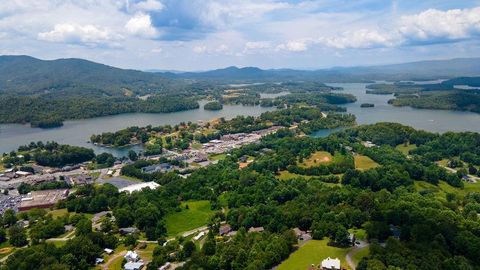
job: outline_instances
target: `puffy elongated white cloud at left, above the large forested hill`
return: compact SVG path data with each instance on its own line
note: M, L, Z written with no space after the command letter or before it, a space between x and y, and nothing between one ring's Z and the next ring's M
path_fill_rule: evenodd
M53 30L41 32L37 35L38 39L50 42L65 42L82 45L112 45L112 41L122 39L107 28L100 28L94 25L78 24L56 24Z

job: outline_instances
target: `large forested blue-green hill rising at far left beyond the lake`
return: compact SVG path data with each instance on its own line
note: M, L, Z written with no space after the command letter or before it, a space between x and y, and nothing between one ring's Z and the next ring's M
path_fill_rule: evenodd
M119 69L82 59L0 56L0 94L122 96L162 91L173 82L159 74ZM130 93L131 94L131 93Z

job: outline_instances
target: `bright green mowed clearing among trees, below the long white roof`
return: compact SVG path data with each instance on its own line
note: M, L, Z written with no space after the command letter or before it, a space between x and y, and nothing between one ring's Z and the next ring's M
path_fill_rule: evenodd
M189 209L185 209L186 205ZM168 214L166 217L168 236L206 225L214 212L210 209L209 201L183 202L181 208L182 211Z

